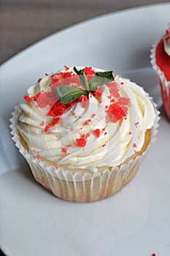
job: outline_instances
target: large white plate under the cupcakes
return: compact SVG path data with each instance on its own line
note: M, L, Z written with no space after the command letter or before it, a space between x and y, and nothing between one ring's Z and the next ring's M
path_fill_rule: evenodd
M135 180L96 203L69 203L31 176L9 135L9 117L26 89L63 65L92 65L144 86L161 105L150 48L169 23L170 4L88 20L54 34L1 66L0 245L7 255L170 255L169 121Z

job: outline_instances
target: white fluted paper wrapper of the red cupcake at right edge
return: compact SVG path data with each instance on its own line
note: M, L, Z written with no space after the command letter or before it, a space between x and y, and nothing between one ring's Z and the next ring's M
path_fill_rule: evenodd
M164 73L156 64L155 50L157 45L158 45L158 42L152 45L151 54L150 54L150 63L152 64L152 68L155 70L155 73L158 76L158 80L161 86L161 95L163 99L163 105L166 110L166 114L170 119L170 81L166 80Z

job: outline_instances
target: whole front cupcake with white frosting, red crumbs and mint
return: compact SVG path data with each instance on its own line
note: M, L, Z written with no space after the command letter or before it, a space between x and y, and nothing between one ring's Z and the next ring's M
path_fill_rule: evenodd
M128 184L155 138L158 111L136 83L93 67L39 79L12 113L34 178L64 200L91 202Z

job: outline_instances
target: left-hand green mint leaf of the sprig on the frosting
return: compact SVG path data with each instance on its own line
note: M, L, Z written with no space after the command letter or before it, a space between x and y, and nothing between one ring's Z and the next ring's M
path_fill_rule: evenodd
M58 99L63 104L68 104L69 102L72 102L74 99L78 99L82 95L88 95L87 91L82 91L71 86L55 87L55 92L58 96Z

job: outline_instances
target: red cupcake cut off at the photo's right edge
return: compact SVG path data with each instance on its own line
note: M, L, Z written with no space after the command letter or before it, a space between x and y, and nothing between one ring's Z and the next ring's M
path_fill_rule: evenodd
M161 86L163 105L170 119L170 25L163 37L152 45L150 58Z

